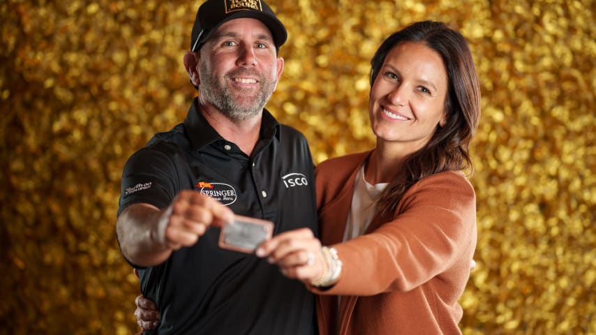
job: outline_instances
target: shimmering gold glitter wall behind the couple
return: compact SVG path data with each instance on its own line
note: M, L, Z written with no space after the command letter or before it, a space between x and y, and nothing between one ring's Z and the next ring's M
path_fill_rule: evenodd
M202 1L0 1L0 334L133 334L114 237L126 158L184 119ZM594 0L270 0L289 31L269 109L315 161L373 147L369 59L442 20L472 47L479 243L465 334L595 334Z

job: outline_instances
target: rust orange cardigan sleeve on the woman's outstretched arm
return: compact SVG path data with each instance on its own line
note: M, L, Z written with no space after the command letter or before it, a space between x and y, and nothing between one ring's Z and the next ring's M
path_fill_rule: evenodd
M331 288L311 290L360 296L406 292L446 271L453 276L454 268L463 272L456 277L467 280L476 246L476 204L474 189L461 172L419 181L389 219L373 232L335 244L343 262L341 277ZM320 218L321 225L325 221Z

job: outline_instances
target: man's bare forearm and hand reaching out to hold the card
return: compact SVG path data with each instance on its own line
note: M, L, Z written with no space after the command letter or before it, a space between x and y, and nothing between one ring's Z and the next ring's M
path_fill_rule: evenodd
M165 262L172 251L193 246L210 225L232 221L234 214L197 191L184 190L166 209L131 204L116 223L124 257L134 265L151 267Z

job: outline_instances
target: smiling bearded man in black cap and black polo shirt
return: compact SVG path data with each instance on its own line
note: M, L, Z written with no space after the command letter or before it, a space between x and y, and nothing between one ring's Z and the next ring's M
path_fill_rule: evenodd
M273 221L274 234L318 233L308 144L264 109L286 38L264 1L203 3L184 54L198 98L124 167L117 237L158 306L158 334L315 333L302 283L218 247L234 214Z

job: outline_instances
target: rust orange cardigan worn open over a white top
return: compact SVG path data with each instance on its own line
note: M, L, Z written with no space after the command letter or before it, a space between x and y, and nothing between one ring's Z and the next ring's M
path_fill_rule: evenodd
M334 245L343 260L334 286L310 288L318 294L320 335L461 334L458 299L477 240L472 185L461 172L426 177L392 216L375 216L366 234L340 244L355 176L370 153L316 169L322 244Z

